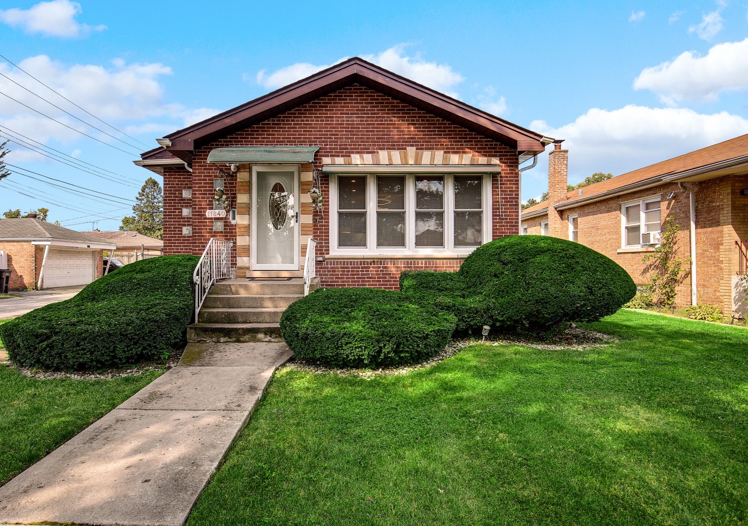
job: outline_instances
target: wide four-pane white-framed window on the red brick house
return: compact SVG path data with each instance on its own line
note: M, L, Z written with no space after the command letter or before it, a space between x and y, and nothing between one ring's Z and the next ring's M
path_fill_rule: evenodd
M490 241L491 176L341 174L331 183L341 254L469 252Z

